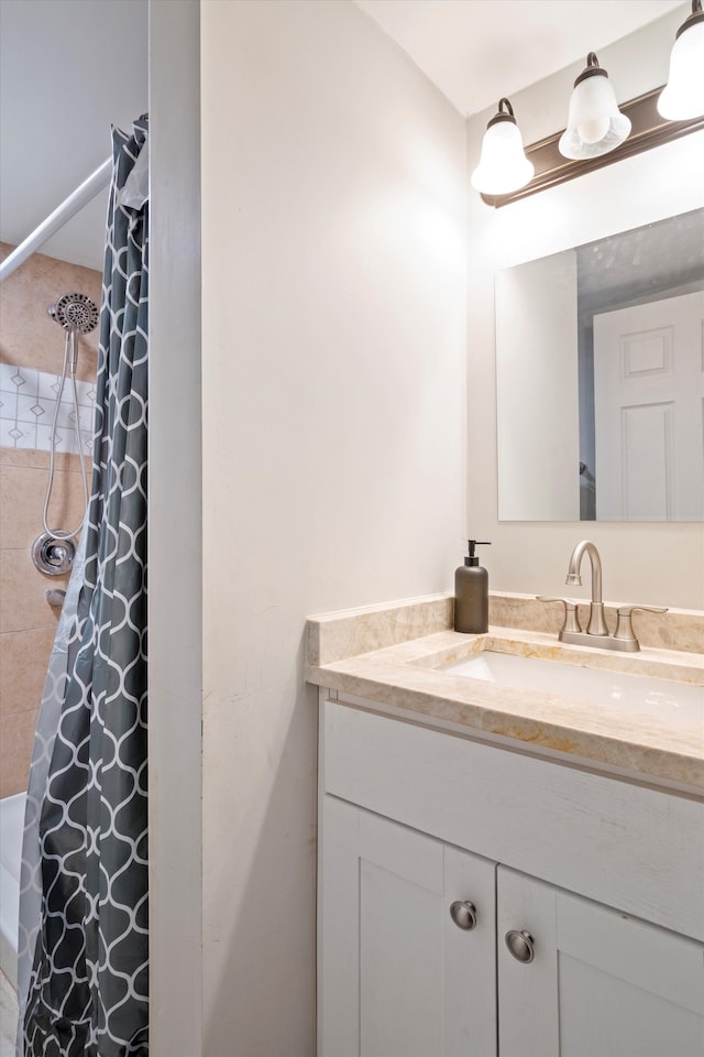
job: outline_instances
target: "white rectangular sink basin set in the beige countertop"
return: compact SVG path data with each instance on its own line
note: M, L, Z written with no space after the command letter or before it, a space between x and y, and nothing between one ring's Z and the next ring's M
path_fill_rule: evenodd
M516 689L542 690L576 701L613 702L619 709L657 716L666 722L688 726L704 722L704 687L685 683L668 683L650 676L624 675L488 650L444 665L443 671Z

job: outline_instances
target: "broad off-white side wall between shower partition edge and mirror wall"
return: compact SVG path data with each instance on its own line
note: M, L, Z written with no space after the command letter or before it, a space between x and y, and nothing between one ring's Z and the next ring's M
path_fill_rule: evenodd
M304 623L463 553L465 123L346 0L201 17L204 1053L308 1057Z

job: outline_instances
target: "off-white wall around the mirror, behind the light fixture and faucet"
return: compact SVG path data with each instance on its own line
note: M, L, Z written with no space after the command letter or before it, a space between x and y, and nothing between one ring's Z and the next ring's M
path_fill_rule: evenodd
M667 80L681 9L600 52L620 101ZM586 45L585 45L586 46ZM564 128L582 63L512 97L524 140ZM468 168L477 164L491 112L468 126ZM704 608L704 532L696 524L499 522L497 519L494 276L497 271L704 205L704 133L617 162L553 190L494 210L469 186L469 524L492 540L490 586L564 592L568 558L587 536L604 564L604 596ZM569 593L588 597L584 588Z

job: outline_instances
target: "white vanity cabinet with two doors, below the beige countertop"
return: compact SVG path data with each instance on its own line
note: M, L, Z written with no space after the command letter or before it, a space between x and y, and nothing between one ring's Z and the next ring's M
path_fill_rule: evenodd
M320 785L321 1057L704 1053L701 802L336 701Z

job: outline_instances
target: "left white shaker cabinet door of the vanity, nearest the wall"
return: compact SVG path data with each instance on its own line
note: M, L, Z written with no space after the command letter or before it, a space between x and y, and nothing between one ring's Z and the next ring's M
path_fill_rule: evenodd
M322 816L319 1054L495 1055L494 864L331 796Z

